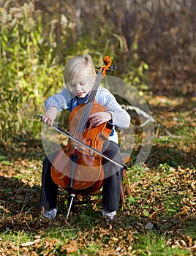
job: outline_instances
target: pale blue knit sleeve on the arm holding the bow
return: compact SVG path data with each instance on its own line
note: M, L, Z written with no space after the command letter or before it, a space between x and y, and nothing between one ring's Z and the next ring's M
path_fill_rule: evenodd
M54 94L46 99L45 110L49 110L51 107L56 107L58 111L69 108L71 101L71 94L67 88L63 89L61 93Z

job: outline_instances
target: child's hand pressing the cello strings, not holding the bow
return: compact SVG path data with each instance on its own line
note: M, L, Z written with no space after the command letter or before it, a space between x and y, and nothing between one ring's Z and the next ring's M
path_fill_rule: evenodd
M109 112L97 112L89 116L90 127L98 127L100 124L103 124L112 119L112 115Z

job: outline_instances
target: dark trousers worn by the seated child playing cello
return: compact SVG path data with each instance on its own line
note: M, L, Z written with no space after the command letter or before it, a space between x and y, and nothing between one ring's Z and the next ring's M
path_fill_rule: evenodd
M113 141L105 141L102 147L102 153L117 162L123 163L118 145ZM50 168L56 154L58 154L58 151L45 157L42 167L42 187L38 208L42 208L43 206L45 211L56 208L57 204L58 185L54 183L50 174ZM102 166L105 175L102 188L103 208L105 211L116 211L118 210L120 200L123 168L104 157L102 158Z

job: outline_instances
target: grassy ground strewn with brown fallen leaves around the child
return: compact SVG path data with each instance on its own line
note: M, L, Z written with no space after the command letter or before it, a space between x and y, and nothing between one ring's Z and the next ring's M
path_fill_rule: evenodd
M66 192L59 192L59 214L42 219L37 209L42 141L18 137L1 143L1 255L195 255L195 98L146 97L154 123L151 153L142 166L129 162L132 195L117 219L102 219L100 206L80 206L66 220Z

